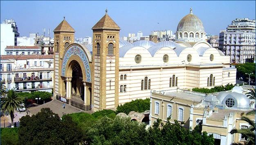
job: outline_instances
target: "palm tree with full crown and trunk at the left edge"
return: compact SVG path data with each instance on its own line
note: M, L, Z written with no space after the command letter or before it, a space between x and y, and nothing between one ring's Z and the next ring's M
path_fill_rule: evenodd
M23 98L19 97L16 91L13 89L7 92L5 97L1 98L1 110L5 114L6 112L10 113L11 116L11 127L13 128L13 119L14 119L14 110L22 108L21 104L23 103Z

